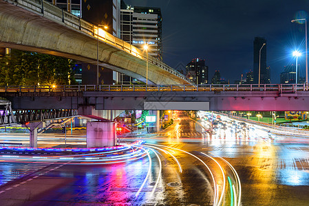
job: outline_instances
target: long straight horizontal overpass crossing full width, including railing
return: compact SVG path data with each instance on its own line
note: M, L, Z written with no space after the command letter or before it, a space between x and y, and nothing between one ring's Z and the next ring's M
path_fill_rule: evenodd
M305 84L0 87L13 109L309 111Z

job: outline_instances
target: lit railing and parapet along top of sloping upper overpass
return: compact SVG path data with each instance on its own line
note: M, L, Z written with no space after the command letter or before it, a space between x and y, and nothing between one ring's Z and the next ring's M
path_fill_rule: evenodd
M103 41L109 45L117 47L118 49L122 49L122 51L128 52L129 54L132 54L137 58L147 61L147 54L145 54L145 52L142 52L137 47L134 47L133 45L130 45L125 41L122 41L120 38L116 38L115 36L109 34L108 32L103 32L103 34L102 32L99 32L99 34L101 33L102 35L101 36L98 35L97 25L88 23L87 21L84 21L83 19L75 16L74 14L66 12L61 8L52 5L52 3L50 2L41 0L14 0L14 1L4 0L4 1L14 3L17 6L25 8L28 11L41 14L48 19L56 21L59 24L64 23L65 25L71 27L74 30L84 32L87 35L90 35L94 38L98 38L100 41ZM174 76L178 76L178 78L182 78L182 80L191 83L191 80L182 75L182 73L164 64L164 62L161 62L160 60L153 58L152 56L148 57L148 62L164 69L165 71L168 71L169 73L172 73Z

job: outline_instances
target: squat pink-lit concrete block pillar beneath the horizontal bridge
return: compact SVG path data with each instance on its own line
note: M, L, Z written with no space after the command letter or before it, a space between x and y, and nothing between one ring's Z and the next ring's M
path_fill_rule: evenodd
M116 146L116 122L87 122L87 148Z

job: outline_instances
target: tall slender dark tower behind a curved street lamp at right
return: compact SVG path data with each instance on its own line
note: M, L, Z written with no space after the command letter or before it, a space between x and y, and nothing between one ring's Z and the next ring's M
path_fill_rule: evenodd
M264 44L266 44L265 38L255 37L255 40L253 42L253 82L255 84L270 83L270 68L266 69L267 45ZM259 81L259 65L260 65L260 81Z

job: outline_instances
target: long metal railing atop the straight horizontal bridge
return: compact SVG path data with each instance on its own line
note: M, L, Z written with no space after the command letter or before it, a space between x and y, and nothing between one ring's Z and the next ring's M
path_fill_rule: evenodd
M47 85L47 86L0 86L0 92L83 92L83 91L278 91L297 93L308 91L306 84L177 84L177 85Z

